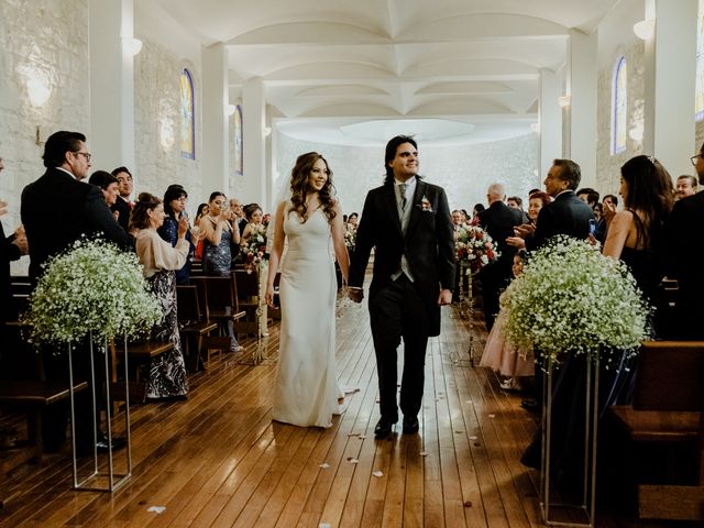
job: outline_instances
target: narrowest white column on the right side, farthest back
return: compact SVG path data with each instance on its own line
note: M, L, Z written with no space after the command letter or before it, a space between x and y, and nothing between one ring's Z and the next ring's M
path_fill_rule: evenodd
M542 182L552 166L552 161L562 157L562 109L558 105L561 96L561 78L550 69L540 70L540 173Z

